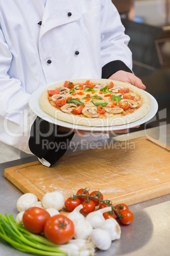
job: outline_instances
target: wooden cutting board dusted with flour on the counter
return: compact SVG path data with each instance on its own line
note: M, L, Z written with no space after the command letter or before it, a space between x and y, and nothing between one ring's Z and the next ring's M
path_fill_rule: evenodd
M131 205L170 193L170 148L142 137L65 155L53 167L39 162L10 167L4 176L39 200L54 190L67 199L79 188L90 188L100 189L114 205Z

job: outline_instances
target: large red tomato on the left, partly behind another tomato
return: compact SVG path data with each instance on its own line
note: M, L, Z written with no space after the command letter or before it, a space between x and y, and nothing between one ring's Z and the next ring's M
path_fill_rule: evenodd
M46 221L50 218L48 211L39 207L30 207L23 213L23 225L34 234L44 232Z

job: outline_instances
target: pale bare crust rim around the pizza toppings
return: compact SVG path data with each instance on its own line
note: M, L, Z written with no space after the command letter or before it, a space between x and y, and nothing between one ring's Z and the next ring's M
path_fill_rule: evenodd
M85 83L87 79L76 79L71 80L74 84L76 83ZM107 127L107 126L115 126L115 125L124 125L135 122L143 117L145 117L150 110L150 98L145 94L145 91L134 87L129 83L119 82L115 80L108 80L108 79L92 79L91 82L93 83L110 83L113 82L114 85L121 86L121 87L128 87L131 92L136 94L141 99L141 107L138 110L134 111L133 113L125 116L121 116L121 114L117 115L116 117L110 118L87 118L87 117L79 117L79 115L70 115L67 113L63 113L62 111L54 108L48 101L48 90L55 90L59 87L63 87L64 82L56 83L55 85L51 85L48 87L44 92L42 92L41 96L39 97L39 105L43 111L55 117L58 120L62 120L64 122L69 122L71 124L76 125L84 125L84 126L98 126L98 127Z

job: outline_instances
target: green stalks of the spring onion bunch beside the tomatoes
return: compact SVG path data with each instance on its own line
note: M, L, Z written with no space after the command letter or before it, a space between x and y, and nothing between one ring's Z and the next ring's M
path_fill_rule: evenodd
M0 214L0 237L17 250L46 256L67 255L60 250L60 246L40 235L32 234L22 225L16 224L12 215L9 216L6 213L5 216Z

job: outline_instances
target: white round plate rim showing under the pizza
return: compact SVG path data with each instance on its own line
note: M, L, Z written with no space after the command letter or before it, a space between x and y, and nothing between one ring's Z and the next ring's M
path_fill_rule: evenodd
M154 117L154 115L157 113L157 110L158 110L158 104L157 104L157 101L155 100L155 98L152 95L150 95L148 92L145 92L145 94L147 94L148 97L150 98L151 108L145 117L141 118L140 120L137 120L136 122L132 122L130 124L125 124L125 125L109 126L109 127L91 127L91 126L84 126L84 125L75 125L75 124L70 124L68 122L60 121L54 117L51 117L51 115L48 115L48 113L41 110L41 108L39 106L39 96L46 88L47 88L46 86L42 87L42 88L36 90L36 92L34 92L32 94L32 96L30 96L29 106L30 106L31 110L34 111L34 113L36 113L36 115L38 117L41 117L42 119L44 119L52 124L60 125L60 126L67 127L70 129L79 129L79 130L85 130L85 131L100 131L100 132L101 131L116 131L116 130L122 130L122 129L129 129L131 127L135 127L135 126L138 126L138 125L148 122L148 120L150 120L150 119L152 119L152 117Z

